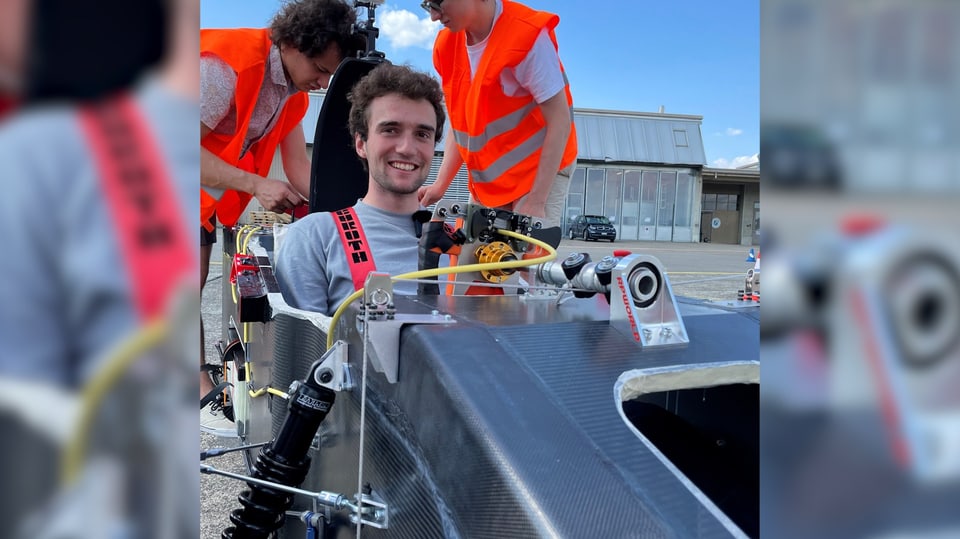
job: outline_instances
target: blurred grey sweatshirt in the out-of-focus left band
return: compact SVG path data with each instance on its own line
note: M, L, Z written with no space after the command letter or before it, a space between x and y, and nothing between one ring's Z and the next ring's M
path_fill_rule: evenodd
M200 105L146 79L135 89L199 260ZM0 125L0 376L83 383L140 324L100 171L70 105ZM198 266L199 269L199 266Z

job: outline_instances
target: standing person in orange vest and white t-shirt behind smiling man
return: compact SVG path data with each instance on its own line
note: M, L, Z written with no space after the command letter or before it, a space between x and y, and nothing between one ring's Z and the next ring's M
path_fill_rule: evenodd
M433 61L450 113L443 162L421 203L442 198L466 163L474 201L559 226L577 158L559 17L510 0L421 6L444 26Z

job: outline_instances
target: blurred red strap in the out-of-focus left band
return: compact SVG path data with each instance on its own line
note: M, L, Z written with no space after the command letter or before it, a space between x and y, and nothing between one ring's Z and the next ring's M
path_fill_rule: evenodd
M137 312L152 320L196 272L186 216L133 99L122 94L86 106L80 123L100 170Z

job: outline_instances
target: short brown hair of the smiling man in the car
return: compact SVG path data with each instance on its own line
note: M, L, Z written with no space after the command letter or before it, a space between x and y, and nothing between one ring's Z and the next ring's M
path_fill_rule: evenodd
M360 135L367 140L367 123L370 120L370 103L378 97L397 94L410 100L427 100L437 114L437 130L434 142L443 136L443 123L446 113L443 110L443 90L440 83L430 75L406 65L394 65L383 62L367 73L354 85L347 95L350 100L350 136Z

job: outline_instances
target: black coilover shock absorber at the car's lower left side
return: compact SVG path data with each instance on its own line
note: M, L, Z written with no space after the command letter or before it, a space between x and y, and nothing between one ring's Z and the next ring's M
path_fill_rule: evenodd
M308 451L320 423L333 406L336 392L324 384L332 370L318 361L310 375L290 395L287 419L274 440L264 446L254 464L253 477L299 487L310 471ZM293 494L247 483L240 493L240 509L230 513L233 526L223 530L223 539L266 539L283 525Z

